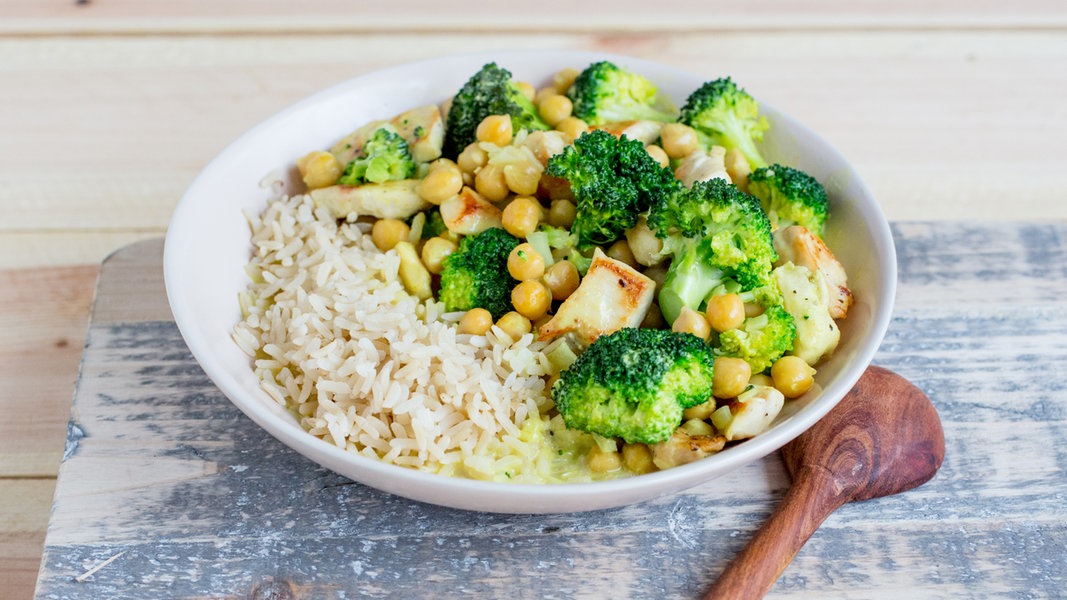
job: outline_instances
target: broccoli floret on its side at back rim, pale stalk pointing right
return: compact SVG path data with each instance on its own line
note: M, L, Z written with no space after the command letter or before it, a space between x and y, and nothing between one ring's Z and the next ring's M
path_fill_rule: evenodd
M674 121L660 108L656 86L644 77L608 61L595 62L574 80L567 95L573 113L590 125L622 121Z

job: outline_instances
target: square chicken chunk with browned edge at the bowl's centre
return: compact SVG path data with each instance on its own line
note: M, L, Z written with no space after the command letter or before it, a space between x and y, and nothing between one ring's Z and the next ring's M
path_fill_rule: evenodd
M578 288L540 328L541 340L571 333L583 346L624 327L637 327L652 305L655 282L600 249Z

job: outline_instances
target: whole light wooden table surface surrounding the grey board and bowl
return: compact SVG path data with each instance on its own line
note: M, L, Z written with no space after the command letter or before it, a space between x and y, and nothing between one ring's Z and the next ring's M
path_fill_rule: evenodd
M1062 0L2 0L4 600L33 595L101 262L162 236L200 169L290 102L508 48L732 75L837 145L896 222L1067 221Z

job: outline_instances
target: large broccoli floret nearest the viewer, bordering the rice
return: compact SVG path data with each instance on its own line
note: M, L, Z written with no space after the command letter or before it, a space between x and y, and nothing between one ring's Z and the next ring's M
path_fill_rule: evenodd
M696 335L620 329L560 374L552 398L569 428L652 444L670 438L685 409L711 397L713 363Z

